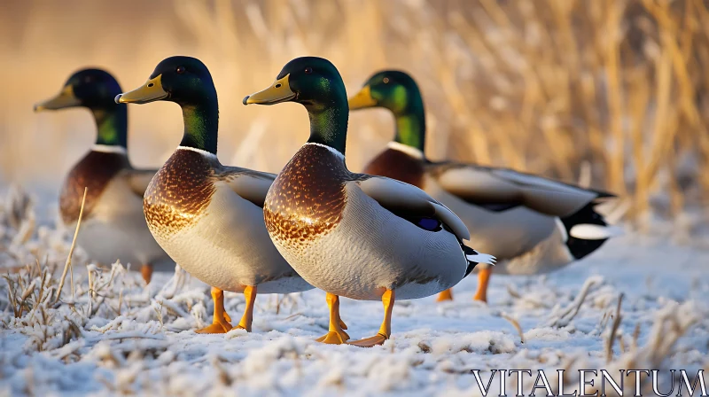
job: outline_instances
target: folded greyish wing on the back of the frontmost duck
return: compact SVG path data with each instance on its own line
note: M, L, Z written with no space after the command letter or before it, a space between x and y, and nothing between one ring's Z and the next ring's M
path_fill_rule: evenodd
M393 214L430 217L443 222L459 239L470 239L470 231L447 206L409 183L384 176L366 175L357 181L360 189Z

